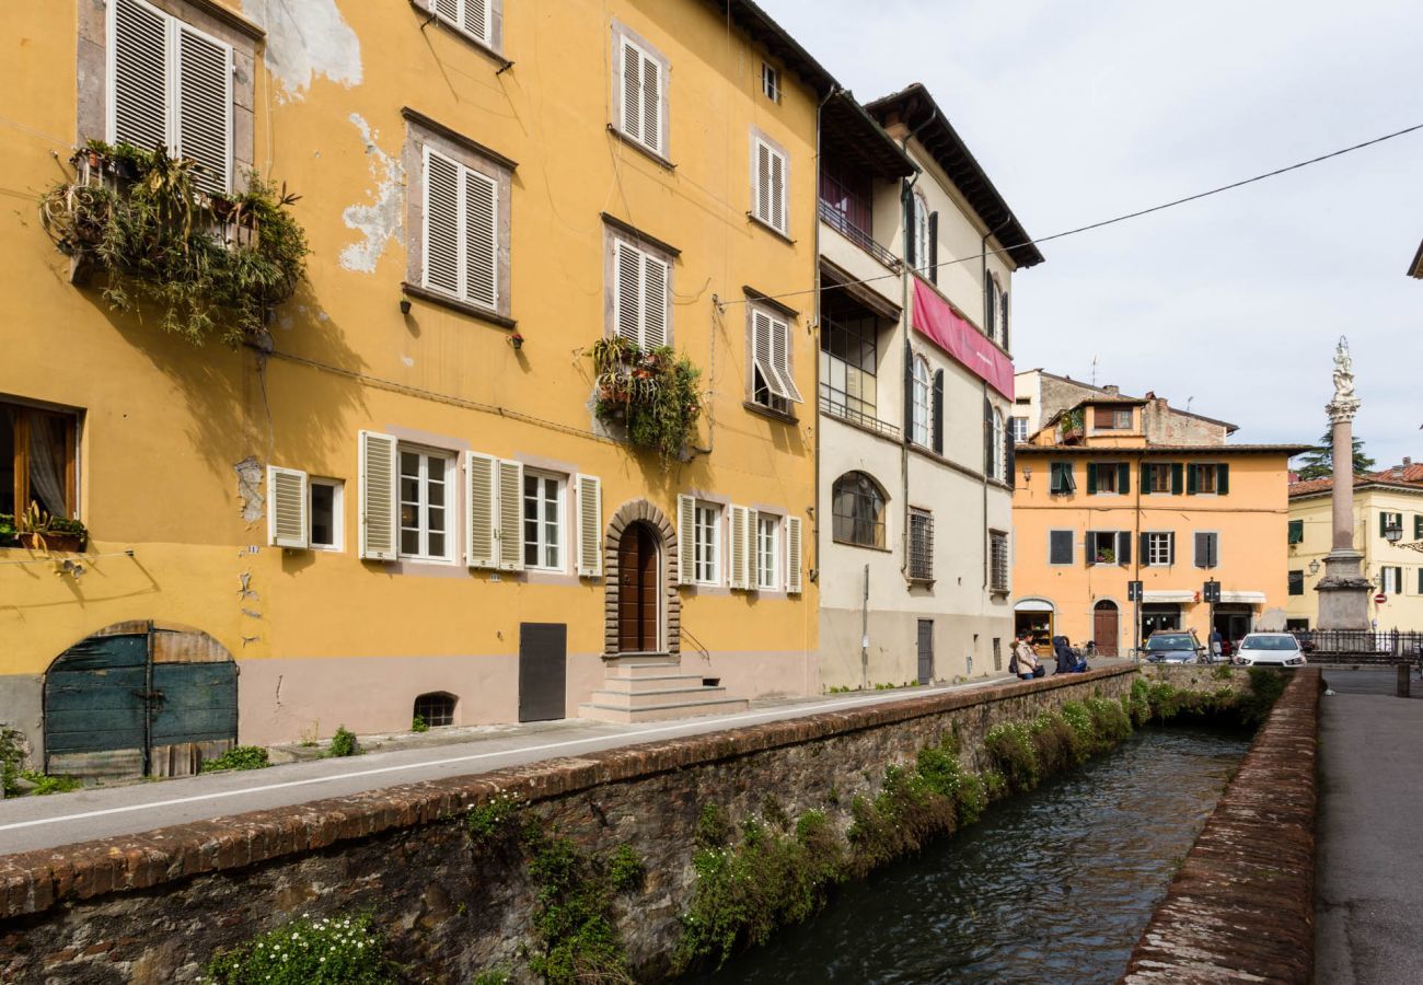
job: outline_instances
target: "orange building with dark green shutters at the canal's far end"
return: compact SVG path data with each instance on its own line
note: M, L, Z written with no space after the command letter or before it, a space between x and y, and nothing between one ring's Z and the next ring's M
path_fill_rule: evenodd
M1150 394L1148 394L1150 396ZM1016 447L1015 631L1093 641L1126 656L1158 629L1212 626L1238 641L1284 628L1286 464L1294 446L1157 443L1183 430L1158 399L1097 390L1054 413ZM1200 427L1202 418L1192 426ZM1128 598L1128 582L1143 595ZM1204 598L1217 581L1220 602Z

